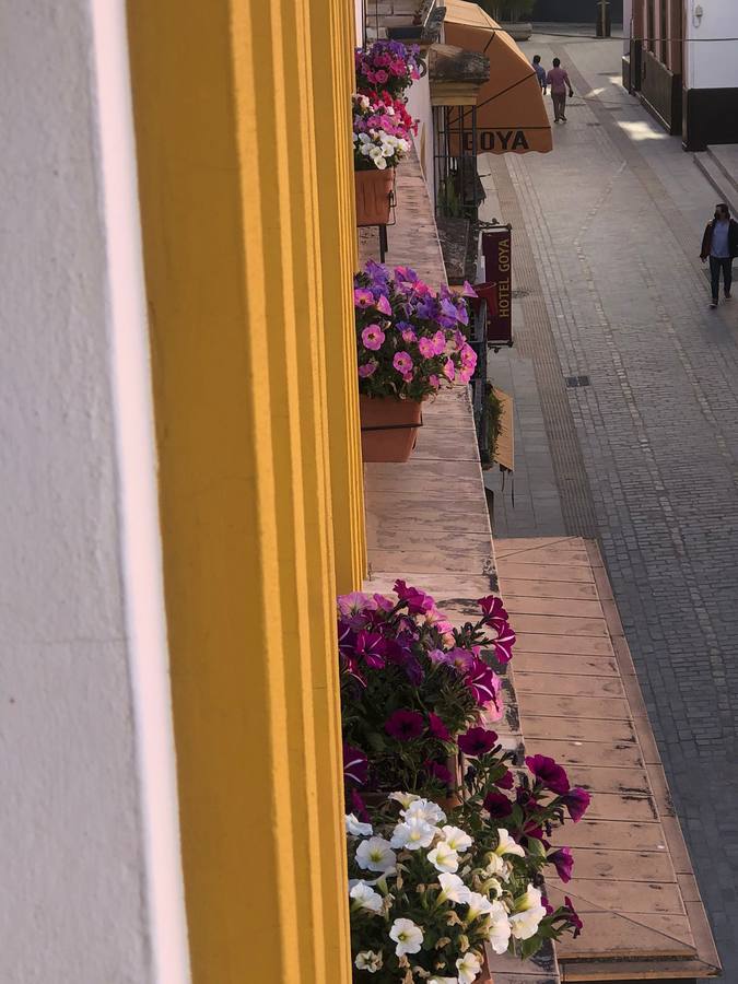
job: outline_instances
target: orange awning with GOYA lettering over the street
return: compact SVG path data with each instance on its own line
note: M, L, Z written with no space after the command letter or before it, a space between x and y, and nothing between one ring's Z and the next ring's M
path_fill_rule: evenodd
M553 149L551 124L534 67L477 3L444 2L446 43L490 59L490 79L477 99L477 153L547 154Z

